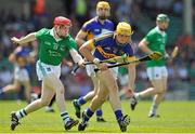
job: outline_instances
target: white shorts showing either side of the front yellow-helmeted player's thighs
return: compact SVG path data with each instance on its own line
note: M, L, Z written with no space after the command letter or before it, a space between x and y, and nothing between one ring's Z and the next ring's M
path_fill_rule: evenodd
M96 68L95 65L86 65L86 71L87 71L87 75L89 77L91 77L92 75L94 75L94 69ZM110 69L113 71L113 75L114 77L117 79L117 76L118 76L118 67L114 67Z

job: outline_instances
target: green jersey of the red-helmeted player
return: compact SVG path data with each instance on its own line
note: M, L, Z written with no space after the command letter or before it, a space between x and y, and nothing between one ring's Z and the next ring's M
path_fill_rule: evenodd
M69 50L77 49L76 42L69 35L64 39L56 39L53 29L42 28L36 32L36 38L39 42L39 59L48 65L60 65Z

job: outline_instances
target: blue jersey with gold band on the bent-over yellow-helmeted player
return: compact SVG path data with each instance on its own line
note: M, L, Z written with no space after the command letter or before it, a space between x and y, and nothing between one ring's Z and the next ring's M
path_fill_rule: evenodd
M95 46L93 55L101 61L122 56L123 54L127 56L134 55L131 44L118 44L113 32L93 39L93 45Z

